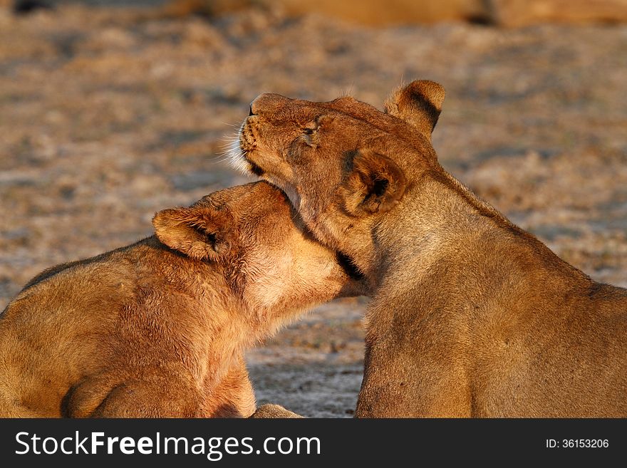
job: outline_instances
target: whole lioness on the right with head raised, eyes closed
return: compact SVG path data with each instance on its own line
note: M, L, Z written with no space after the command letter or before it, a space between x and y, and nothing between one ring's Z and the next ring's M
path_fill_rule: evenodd
M627 416L627 290L591 281L442 169L444 96L415 81L382 113L260 95L234 149L366 276L356 416Z

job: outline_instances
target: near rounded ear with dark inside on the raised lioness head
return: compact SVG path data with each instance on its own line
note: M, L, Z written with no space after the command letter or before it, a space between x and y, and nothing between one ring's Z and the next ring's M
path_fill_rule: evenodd
M346 210L356 216L388 212L405 193L405 173L389 157L361 150L344 186Z

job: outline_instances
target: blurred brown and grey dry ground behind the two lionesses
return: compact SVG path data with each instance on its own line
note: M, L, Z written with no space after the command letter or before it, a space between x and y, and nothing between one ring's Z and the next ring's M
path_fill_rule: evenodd
M0 310L48 266L249 182L222 150L263 92L447 98L442 165L592 278L627 286L627 0L0 0ZM249 353L260 402L351 416L365 298Z

